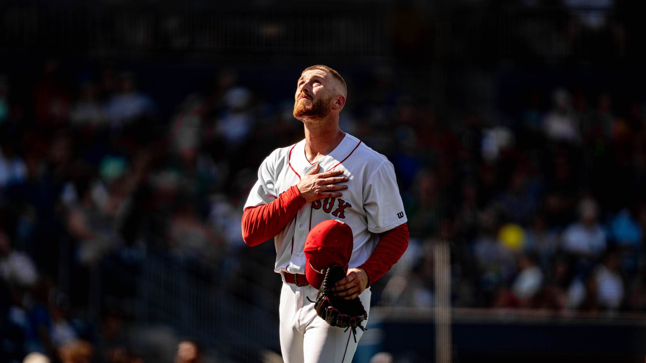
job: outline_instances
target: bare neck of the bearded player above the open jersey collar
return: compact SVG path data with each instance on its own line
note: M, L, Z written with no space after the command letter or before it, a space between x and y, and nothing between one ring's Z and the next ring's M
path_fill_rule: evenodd
M304 122L305 156L315 163L339 146L346 133L339 129L339 122Z

